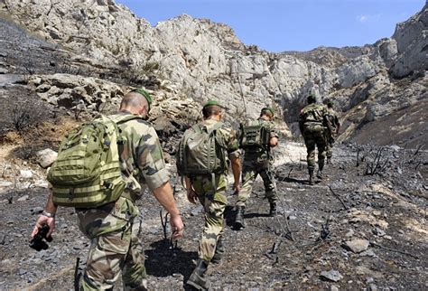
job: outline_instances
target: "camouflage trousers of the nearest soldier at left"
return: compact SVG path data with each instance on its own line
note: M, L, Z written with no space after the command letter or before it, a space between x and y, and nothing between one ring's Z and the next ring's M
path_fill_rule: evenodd
M103 208L77 211L79 228L90 239L80 289L113 289L121 273L124 290L144 286L144 254L139 239L141 215L135 216L138 210L134 203L122 197L111 210Z

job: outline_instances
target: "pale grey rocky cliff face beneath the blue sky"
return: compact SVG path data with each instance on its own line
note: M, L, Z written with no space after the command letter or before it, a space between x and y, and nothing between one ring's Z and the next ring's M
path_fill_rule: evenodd
M247 46L227 25L189 15L152 27L112 0L0 0L0 11L59 44L72 61L132 74L165 101L220 99L235 120L272 104L292 132L310 89L320 101L337 101L342 138L427 94L426 6L372 45L284 53Z

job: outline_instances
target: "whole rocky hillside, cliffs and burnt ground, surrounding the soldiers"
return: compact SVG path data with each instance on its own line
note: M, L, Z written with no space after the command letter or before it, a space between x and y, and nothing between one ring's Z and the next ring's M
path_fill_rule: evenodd
M233 230L237 197L228 192L228 248L209 267L212 288L426 289L427 11L364 47L271 53L189 15L152 27L113 0L0 0L0 289L73 286L76 258L88 250L75 211L60 208L50 249L27 247L48 192L50 148L139 86L154 95L151 121L186 223L173 249L154 197L138 202L149 286L185 289L194 267L202 209L187 202L170 155L200 103L220 99L234 125L272 104L283 114L278 127L296 134L303 96L314 89L320 101L337 101L347 143L334 147L325 180L310 186L304 145L281 139L281 216L266 216L256 181L247 227Z

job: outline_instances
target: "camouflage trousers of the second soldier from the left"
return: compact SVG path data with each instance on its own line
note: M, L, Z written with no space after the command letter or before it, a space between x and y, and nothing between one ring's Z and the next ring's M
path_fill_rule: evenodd
M224 212L228 205L225 192L228 181L225 175L219 174L215 177L215 185L211 176L197 176L191 179L191 184L205 212L198 256L210 261L214 257L217 242L222 239L224 232Z

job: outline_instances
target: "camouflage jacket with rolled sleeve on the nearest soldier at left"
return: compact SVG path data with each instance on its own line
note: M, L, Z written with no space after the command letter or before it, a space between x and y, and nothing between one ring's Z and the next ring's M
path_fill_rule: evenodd
M120 119L118 113L111 116ZM162 148L154 127L143 119L136 118L119 125L121 136L126 139L125 145L119 145L121 153L122 172L127 177L126 192L132 192L138 198L142 186L146 184L154 190L169 181L170 176L163 162ZM76 209L79 218L79 228L89 239L101 234L123 229L129 221L133 221L140 211L132 200L120 197L114 203L108 203L96 209Z

